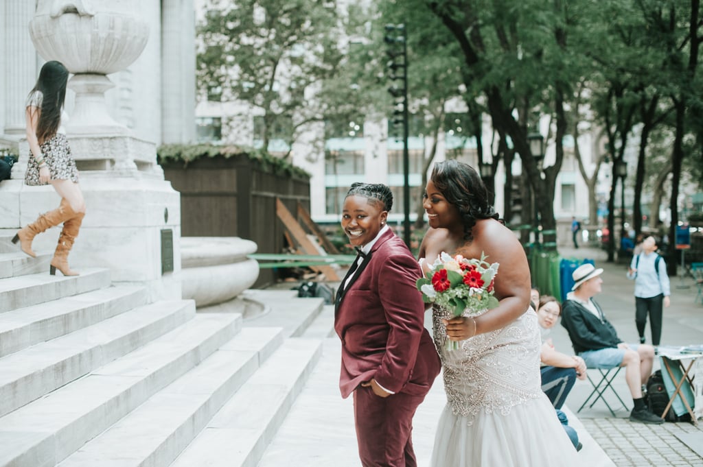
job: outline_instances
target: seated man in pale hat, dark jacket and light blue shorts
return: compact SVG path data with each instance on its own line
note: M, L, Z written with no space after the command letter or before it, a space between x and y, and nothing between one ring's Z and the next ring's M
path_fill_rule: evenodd
M625 367L625 380L635 407L630 420L640 423L663 423L650 412L642 397L642 385L652 373L654 347L627 344L617 336L615 328L605 318L593 297L600 293L602 269L583 264L572 274L574 287L562 303L562 326L569 331L574 352L588 368Z

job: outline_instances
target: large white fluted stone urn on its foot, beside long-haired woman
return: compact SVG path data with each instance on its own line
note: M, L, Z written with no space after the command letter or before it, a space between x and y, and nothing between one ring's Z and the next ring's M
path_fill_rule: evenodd
M106 74L129 67L144 50L149 25L137 0L38 0L30 36L46 60L58 60L73 73L76 92L67 124L70 134L126 135L105 103L115 86Z

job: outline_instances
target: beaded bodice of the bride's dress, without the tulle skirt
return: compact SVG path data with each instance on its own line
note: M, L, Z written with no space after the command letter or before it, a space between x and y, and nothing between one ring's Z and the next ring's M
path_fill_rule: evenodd
M541 397L540 334L531 308L502 329L461 341L458 350L446 348L441 320L449 317L448 310L434 305L434 345L454 415L471 424L481 410L508 415L515 405Z

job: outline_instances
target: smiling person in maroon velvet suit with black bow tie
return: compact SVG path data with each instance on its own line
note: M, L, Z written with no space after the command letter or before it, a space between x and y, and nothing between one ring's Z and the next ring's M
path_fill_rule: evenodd
M417 466L413 415L441 369L415 288L420 265L386 225L392 204L386 185L354 183L342 211L342 228L359 256L335 300L340 390L344 398L354 394L364 467Z

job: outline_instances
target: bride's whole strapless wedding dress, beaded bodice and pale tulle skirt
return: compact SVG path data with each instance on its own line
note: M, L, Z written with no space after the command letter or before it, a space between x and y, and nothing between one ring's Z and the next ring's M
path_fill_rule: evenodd
M503 329L446 350L446 310L434 306L434 343L447 404L434 439L435 467L580 466L541 390L541 341L530 308Z

